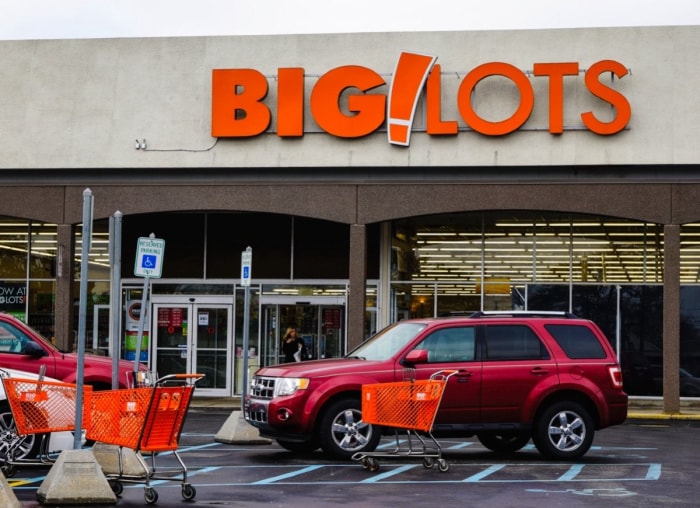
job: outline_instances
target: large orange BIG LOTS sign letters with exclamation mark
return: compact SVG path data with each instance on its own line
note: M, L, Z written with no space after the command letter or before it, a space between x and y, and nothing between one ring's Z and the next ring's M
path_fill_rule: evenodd
M434 56L403 52L394 70L388 95L368 93L387 83L377 72L359 65L336 67L323 74L311 90L308 108L318 126L330 135L357 138L387 125L391 144L407 146L419 97L425 95L425 128L431 135L455 135L458 121L442 118L441 73ZM548 80L549 132L564 130L564 80L578 76L577 62L535 63L534 78ZM601 81L611 73L617 78L628 74L615 60L600 60L583 75L583 86L598 99L614 108L613 120L603 121L592 111L580 113L583 125L596 134L610 135L623 130L632 109L627 98ZM515 111L507 118L487 120L475 111L471 96L476 85L490 77L510 80L520 95ZM572 78L573 79L573 78ZM278 69L275 108L280 137L304 135L304 69ZM243 138L266 132L272 120L273 106L268 104L267 78L254 69L214 69L212 76L212 136ZM347 104L341 107L341 96ZM457 91L457 108L462 121L487 136L503 136L518 130L535 107L535 93L528 75L504 62L490 62L472 69Z

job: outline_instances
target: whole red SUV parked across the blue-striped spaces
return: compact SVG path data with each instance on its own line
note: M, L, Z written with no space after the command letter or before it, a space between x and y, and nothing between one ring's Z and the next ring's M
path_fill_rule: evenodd
M620 365L594 323L568 313L479 312L400 321L344 358L262 368L245 419L288 450L369 452L382 429L362 421L362 385L402 381L406 369L415 379L457 370L433 434L476 436L498 452L532 439L549 459L576 459L595 430L627 418Z

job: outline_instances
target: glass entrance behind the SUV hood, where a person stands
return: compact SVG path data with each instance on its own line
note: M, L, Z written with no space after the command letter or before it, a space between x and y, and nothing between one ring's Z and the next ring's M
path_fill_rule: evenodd
M262 305L262 315L261 361L264 365L284 361L282 337L288 328L296 328L312 360L345 354L343 305L268 303Z

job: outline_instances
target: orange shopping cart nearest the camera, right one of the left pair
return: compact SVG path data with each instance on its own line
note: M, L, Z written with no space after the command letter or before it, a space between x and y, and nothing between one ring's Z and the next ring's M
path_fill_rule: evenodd
M93 393L87 438L118 446L119 471L105 474L112 491L120 495L123 482L144 483L146 503L158 501L151 480L180 480L182 497L194 499L196 489L187 481L187 467L177 453L182 425L189 408L195 383L204 374L170 374L151 382L135 383L134 388ZM150 385L150 387L149 387ZM144 474L125 474L123 448L134 450ZM172 452L180 469L159 470L156 476L156 455ZM150 464L143 453L150 454ZM165 473L164 476L160 474Z

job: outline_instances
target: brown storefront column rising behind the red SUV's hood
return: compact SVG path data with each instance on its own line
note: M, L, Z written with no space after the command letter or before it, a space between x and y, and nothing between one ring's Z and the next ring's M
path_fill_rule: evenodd
M350 289L348 294L348 351L362 342L365 333L367 283L367 231L364 224L350 226Z

